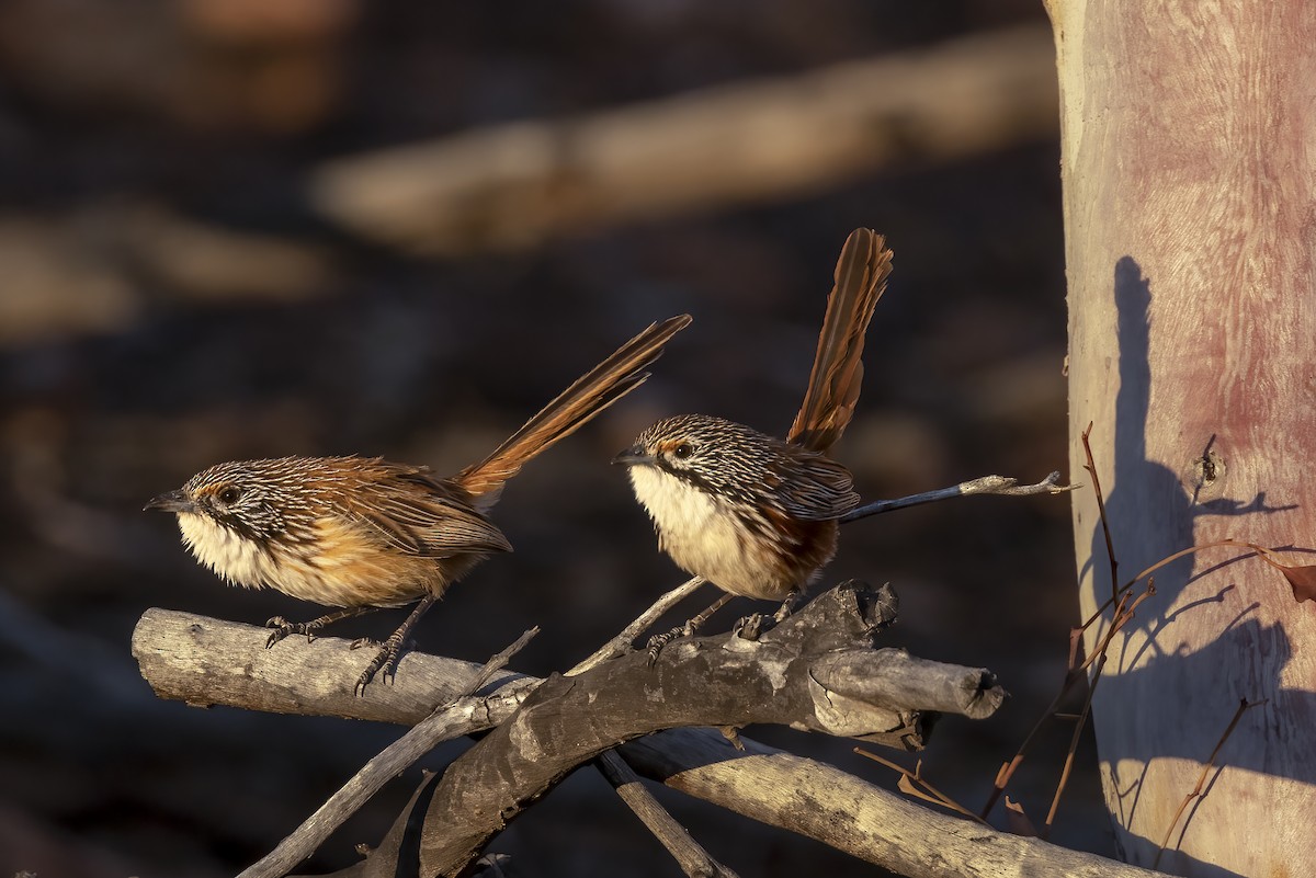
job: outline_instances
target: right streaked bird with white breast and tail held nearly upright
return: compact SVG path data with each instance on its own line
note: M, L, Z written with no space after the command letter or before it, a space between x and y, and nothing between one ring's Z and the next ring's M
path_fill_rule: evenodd
M726 594L662 647L690 634L730 595L786 601L836 555L837 519L859 503L849 471L826 456L854 415L863 336L891 273L882 235L857 229L836 266L808 389L786 440L701 414L647 427L625 464L658 545ZM657 652L651 652L657 656Z

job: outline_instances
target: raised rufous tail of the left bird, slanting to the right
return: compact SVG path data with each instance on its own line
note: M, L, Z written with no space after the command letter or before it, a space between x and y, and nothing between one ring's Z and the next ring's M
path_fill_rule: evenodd
M476 498L480 509L497 501L503 482L515 476L532 457L559 439L570 436L591 418L626 396L649 377L646 369L663 346L690 326L690 314L651 323L617 348L608 359L580 376L507 442L478 464L457 474L457 481Z

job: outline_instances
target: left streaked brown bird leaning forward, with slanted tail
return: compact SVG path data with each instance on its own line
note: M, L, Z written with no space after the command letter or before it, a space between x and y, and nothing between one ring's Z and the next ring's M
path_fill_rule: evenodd
M211 467L146 509L178 515L183 543L233 585L271 588L336 612L312 622L275 616L266 647L290 634L383 607L416 609L357 681L387 678L420 616L449 585L512 544L486 517L503 484L532 457L649 377L688 314L654 323L546 405L484 460L451 478L379 457L279 457Z

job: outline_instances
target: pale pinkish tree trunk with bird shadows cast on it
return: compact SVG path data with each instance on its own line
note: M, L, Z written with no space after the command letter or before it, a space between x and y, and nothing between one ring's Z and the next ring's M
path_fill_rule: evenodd
M1070 427L1092 448L1120 581L1225 536L1316 545L1316 4L1049 0L1062 92ZM1200 461L1211 459L1212 467ZM1111 597L1075 494L1082 607ZM1157 573L1094 705L1123 856L1316 874L1316 605L1238 549ZM1296 564L1312 557L1290 553ZM1092 649L1109 624L1087 634Z

